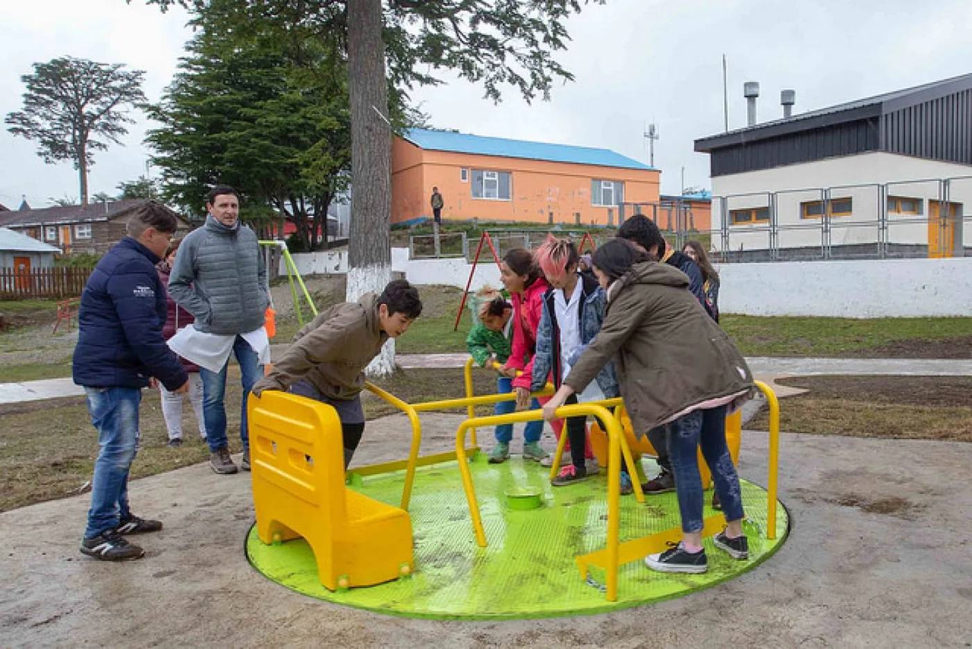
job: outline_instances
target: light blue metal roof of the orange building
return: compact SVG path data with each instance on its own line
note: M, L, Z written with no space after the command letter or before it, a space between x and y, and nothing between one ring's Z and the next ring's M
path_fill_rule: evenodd
M507 140L498 137L468 135L451 131L434 131L426 128L409 128L402 137L419 149L426 151L447 151L453 154L499 155L519 157L528 160L547 160L549 162L573 162L593 164L599 167L619 169L642 169L656 171L652 167L625 155L608 149L572 147L564 144L546 142L527 142Z

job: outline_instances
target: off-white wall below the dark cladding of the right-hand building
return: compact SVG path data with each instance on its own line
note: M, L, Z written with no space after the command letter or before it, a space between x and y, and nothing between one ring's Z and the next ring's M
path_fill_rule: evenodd
M961 203L964 214L972 214L972 165L926 160L908 155L872 152L816 160L774 169L763 169L712 178L712 227L717 228L723 201L728 210L767 207L770 193L776 193L781 227L781 248L820 245L820 221L800 218L800 203L821 199L821 189L830 188L834 198L851 197L853 214L831 219L831 245L876 243L880 186L891 184L888 195L922 198L920 217L889 214L888 242L925 244L928 237L928 200L938 199L940 179L953 178L950 200ZM927 179L927 180L926 180ZM725 197L725 198L721 198ZM917 221L917 222L916 222ZM730 250L759 250L769 247L767 225L741 224L729 229ZM965 227L960 239L972 245L972 227Z

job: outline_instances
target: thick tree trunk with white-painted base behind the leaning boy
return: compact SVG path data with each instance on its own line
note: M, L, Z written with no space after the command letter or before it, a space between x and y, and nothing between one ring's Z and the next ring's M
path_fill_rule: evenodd
M347 299L381 293L392 279L392 131L387 120L382 0L348 0L351 95L351 231ZM395 340L371 361L368 376L395 371Z

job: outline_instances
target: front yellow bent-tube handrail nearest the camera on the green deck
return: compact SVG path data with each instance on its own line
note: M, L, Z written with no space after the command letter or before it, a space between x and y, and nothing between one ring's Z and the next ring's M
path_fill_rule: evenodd
M608 433L608 601L617 600L617 570L618 546L620 533L620 495L621 495L621 437L620 425L607 408L595 403L575 403L561 406L554 413L557 419L593 415L600 419ZM483 529L479 515L479 504L476 501L475 488L472 485L472 473L469 471L469 460L466 456L466 433L470 427L497 426L500 424L520 424L537 421L542 417L539 410L523 410L508 415L492 415L468 419L456 430L456 458L459 461L459 471L463 476L463 488L469 503L469 516L475 531L476 543L481 548L486 547L486 532Z

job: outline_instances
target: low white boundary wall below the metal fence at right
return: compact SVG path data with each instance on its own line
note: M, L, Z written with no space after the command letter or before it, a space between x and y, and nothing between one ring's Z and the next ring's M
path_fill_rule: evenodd
M749 316L972 316L972 257L727 263L719 310Z

